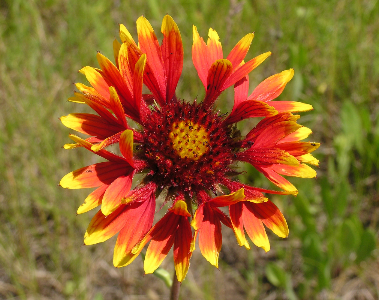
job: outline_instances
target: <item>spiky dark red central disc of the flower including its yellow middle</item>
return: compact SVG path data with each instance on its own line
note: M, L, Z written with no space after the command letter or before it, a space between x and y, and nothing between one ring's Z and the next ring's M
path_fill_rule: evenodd
M201 104L174 102L152 111L138 156L149 180L183 192L215 189L231 169L236 147L224 118Z

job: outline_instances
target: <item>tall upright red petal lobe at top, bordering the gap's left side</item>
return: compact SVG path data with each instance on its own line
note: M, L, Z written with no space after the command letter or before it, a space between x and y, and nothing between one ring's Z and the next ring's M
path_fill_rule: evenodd
M161 45L163 69L166 78L166 101L170 101L183 69L183 44L179 28L169 15L164 16L161 32L163 42Z

